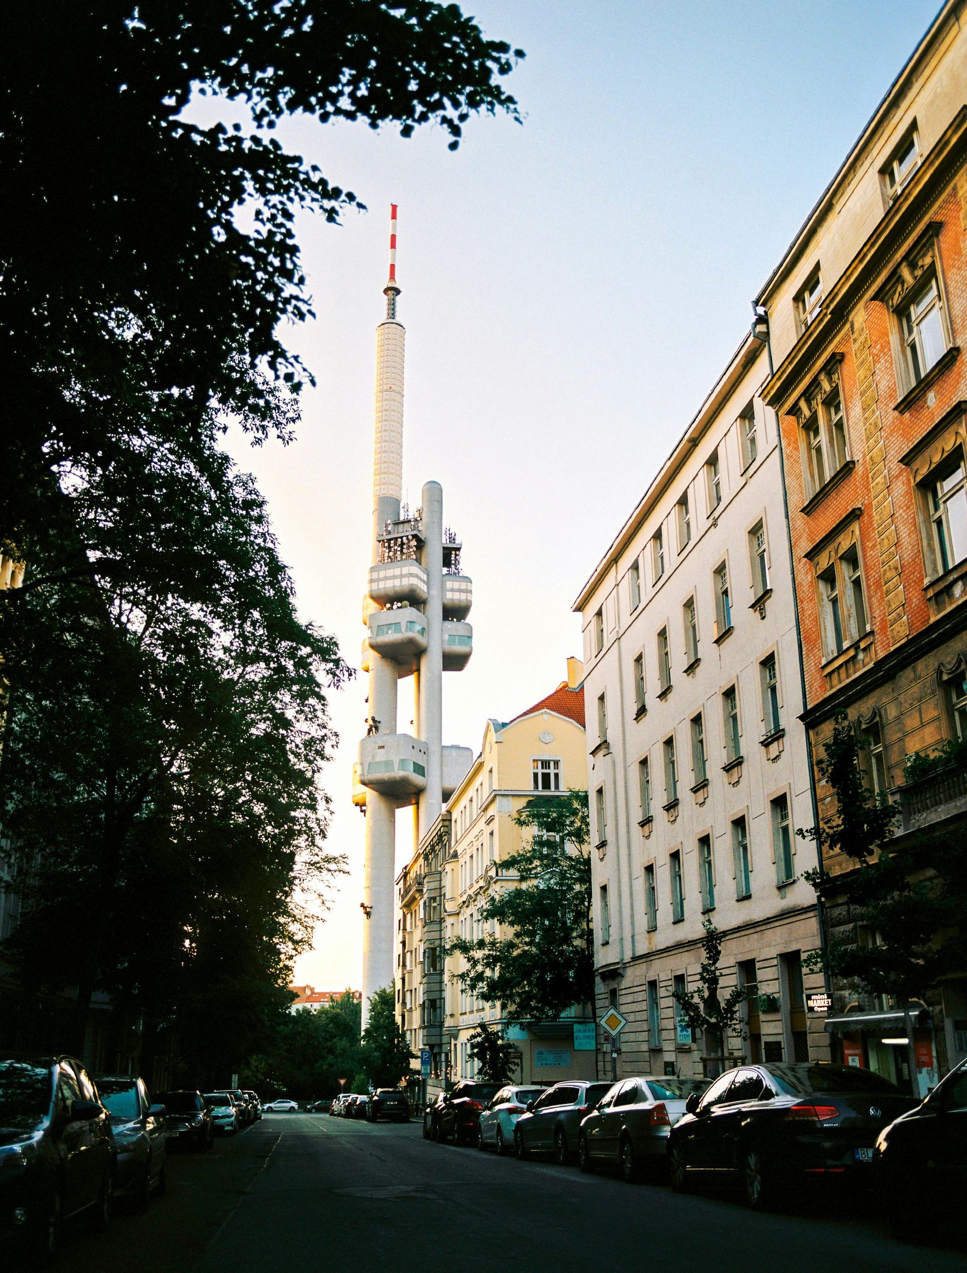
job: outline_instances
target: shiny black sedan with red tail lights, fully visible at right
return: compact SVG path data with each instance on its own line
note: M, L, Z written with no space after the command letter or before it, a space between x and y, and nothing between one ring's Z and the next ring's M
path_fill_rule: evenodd
M749 1207L804 1179L870 1180L882 1129L916 1105L888 1080L830 1062L741 1066L692 1094L668 1138L672 1188L738 1181Z

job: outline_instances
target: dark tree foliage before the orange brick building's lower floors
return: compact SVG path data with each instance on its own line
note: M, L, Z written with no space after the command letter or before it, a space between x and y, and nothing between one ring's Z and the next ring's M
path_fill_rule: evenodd
M810 871L805 878L824 900L849 903L875 941L831 938L810 962L824 962L833 975L874 994L922 998L967 961L967 844L962 836L922 833L894 845L898 812L864 783L856 731L845 714L833 722L817 769L835 811L800 834L818 841L823 857L842 853L854 866L836 875ZM916 766L911 771L916 775Z

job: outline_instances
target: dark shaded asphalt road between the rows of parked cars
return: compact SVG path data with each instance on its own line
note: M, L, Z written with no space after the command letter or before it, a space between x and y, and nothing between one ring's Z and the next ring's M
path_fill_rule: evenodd
M168 1192L106 1235L71 1235L64 1273L922 1273L967 1270L967 1241L905 1246L808 1198L752 1214L576 1167L424 1141L419 1123L266 1115L207 1155L172 1155ZM0 1262L1 1263L1 1262Z

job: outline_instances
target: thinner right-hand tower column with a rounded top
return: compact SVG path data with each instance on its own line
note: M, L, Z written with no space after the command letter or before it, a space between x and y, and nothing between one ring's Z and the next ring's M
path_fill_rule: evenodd
M420 835L443 807L443 488L422 489L426 566L426 651L420 658L420 737L426 743L426 789L420 796Z

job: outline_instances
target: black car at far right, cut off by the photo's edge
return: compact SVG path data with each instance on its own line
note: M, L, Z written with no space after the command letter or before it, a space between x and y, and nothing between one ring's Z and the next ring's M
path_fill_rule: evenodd
M884 1127L873 1153L878 1193L897 1236L967 1211L967 1060Z

